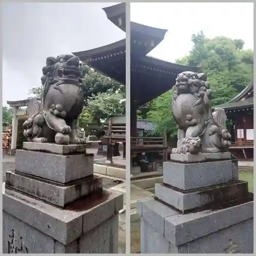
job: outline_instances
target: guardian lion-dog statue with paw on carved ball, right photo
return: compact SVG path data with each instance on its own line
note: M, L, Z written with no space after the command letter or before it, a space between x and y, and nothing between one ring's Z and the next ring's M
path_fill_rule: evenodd
M226 113L212 113L211 90L205 74L182 72L173 87L173 115L178 127L177 148L172 153L225 152L231 135L226 130Z

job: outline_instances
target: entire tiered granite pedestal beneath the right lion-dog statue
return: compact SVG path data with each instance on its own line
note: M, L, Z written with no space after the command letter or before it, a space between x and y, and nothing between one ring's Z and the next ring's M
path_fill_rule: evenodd
M253 253L253 196L237 161L174 155L155 198L138 202L141 253Z

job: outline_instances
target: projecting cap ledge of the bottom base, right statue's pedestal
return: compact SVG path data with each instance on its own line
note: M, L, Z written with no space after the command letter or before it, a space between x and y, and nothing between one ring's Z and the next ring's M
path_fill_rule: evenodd
M220 210L182 215L152 199L139 202L138 213L156 232L178 246L253 218L253 201Z

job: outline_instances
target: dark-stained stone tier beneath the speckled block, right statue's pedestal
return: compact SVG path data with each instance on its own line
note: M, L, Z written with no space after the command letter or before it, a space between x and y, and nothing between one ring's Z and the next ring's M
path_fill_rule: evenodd
M247 194L248 183L246 181L217 185L186 193L164 184L155 185L156 197L182 212L212 203L219 204L236 199L242 200Z

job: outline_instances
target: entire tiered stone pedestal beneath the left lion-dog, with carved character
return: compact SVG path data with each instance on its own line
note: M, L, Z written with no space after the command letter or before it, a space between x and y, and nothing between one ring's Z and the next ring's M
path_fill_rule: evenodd
M24 143L3 191L4 253L117 253L123 195L82 145Z

